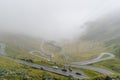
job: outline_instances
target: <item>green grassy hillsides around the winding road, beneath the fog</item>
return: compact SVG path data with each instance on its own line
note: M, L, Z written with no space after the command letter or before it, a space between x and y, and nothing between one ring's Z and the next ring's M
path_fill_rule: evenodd
M21 60L32 60L34 63L42 64L46 66L57 65L59 67L64 67L62 64L84 61L97 57L101 52L110 52L116 55L114 59L101 61L91 66L96 66L104 68L115 73L120 73L120 17L119 15L107 15L97 19L96 21L90 22L87 24L88 28L86 34L84 34L79 40L76 41L67 41L57 44L53 41L46 41L42 46L45 53L54 54L55 57L52 58L52 61L43 60L40 57L33 56L29 54L30 51L40 50L42 39L35 38L20 34L0 34L0 43L6 44L6 54L12 58L17 58ZM34 53L40 55L39 53ZM106 56L104 56L106 57ZM55 77L60 78L60 80L67 80L68 78L56 75L53 73L45 71L37 71L31 67L27 67L26 70L23 69L24 65L10 61L7 63L7 59L0 58L0 70L5 70L8 73L14 69L14 73L22 71L22 75L17 75L19 78L23 78L23 74L26 74L28 77L32 77L34 80L38 80L42 77ZM19 67L18 71L15 69L13 64ZM8 65L10 67L8 67ZM23 66L23 67L22 67ZM9 71L10 69L10 71ZM27 74L27 71L31 71ZM78 69L77 69L78 70ZM97 72L79 69L87 74L89 77L92 77L91 80L104 80L106 76L99 77L101 75ZM4 72L4 71L3 71ZM35 73L35 74L33 74ZM4 73L5 74L5 73ZM45 75L43 75L45 74ZM97 77L98 76L98 77ZM111 75L110 75L111 76ZM11 77L11 76L10 76ZM94 77L94 79L93 79ZM115 76L117 77L117 76ZM8 75L5 74L4 78L8 79ZM15 77L13 77L15 78ZM11 80L14 80L11 78ZM41 79L42 80L42 79ZM69 79L68 79L69 80Z

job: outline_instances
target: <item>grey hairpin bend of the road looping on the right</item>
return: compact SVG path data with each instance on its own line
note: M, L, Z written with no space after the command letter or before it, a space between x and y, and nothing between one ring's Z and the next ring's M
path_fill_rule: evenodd
M108 56L105 57L105 58L102 58L104 55L108 55ZM76 67L76 68L89 69L89 70L99 72L101 74L114 74L114 72L106 70L106 69L97 68L97 67L93 67L93 66L88 66L89 64L97 63L97 62L104 61L104 60L109 60L109 59L112 59L114 57L115 57L115 55L113 55L112 53L104 52L104 53L100 53L100 55L97 58L94 58L92 60L82 61L82 62L72 62L71 64L65 64L64 66L71 66L71 67ZM66 60L67 60L67 58L66 58Z

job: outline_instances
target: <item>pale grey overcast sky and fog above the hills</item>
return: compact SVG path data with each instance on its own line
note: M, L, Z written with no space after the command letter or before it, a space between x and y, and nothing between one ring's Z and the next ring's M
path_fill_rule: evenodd
M82 25L120 9L120 0L0 0L0 31L73 39Z

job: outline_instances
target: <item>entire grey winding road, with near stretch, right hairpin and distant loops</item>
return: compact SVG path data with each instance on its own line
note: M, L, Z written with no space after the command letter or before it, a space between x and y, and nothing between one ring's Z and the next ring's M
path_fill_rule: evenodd
M48 71L48 72L52 72L52 73L56 73L56 74L59 74L59 75L62 75L62 76L67 76L67 77L73 77L73 78L79 78L79 79L86 79L88 76L86 76L85 75L85 73L83 74L83 72L81 73L82 75L76 75L75 73L75 71L72 71L72 73L71 72L63 72L62 71L62 69L57 69L57 70L55 70L54 68L52 68L52 66L50 66L50 65L47 65L47 66L43 66L43 65L39 65L39 64L34 64L33 62L31 63L31 62L26 62L26 61L23 61L22 59L21 60L17 60L17 59L15 59L15 58L11 58L11 57L8 57L7 55L6 55L6 52L5 52L5 44L3 44L3 43L1 43L1 55L4 57L4 58L7 58L7 59L10 59L10 60L12 60L12 61L14 61L14 62L17 62L17 63L20 63L20 64L24 64L24 65L27 65L27 66L30 66L30 67L33 67L33 68L35 68L35 69L41 69L41 68L43 68L42 70L43 71ZM52 62L52 61L50 61L50 60L52 60L52 59L49 59L49 58L53 58L53 57L55 57L55 55L53 55L53 54L50 54L50 53L45 53L43 50L42 50L43 48L41 48L40 49L40 51L30 51L30 52L28 52L29 53L29 55L33 55L33 56L35 56L35 57L39 57L40 59L43 59L43 60L46 60L46 61L48 61L48 62ZM39 53L39 54L34 54L34 53ZM8 53L7 53L8 54ZM101 59L101 57L104 55L104 54L108 54L109 56L108 57L106 57L106 58L103 58L103 59ZM49 55L49 56L48 56ZM50 57L51 55L53 55L53 57ZM44 57L43 57L44 56ZM45 58L45 56L46 56L46 58ZM65 57L66 58L66 57ZM107 59L111 59L111 58L114 58L114 55L112 55L111 53L101 53L97 58L95 58L95 59L93 59L93 60L95 60L95 62L98 62L98 61L102 61L102 60L107 60ZM100 59L100 60L99 60ZM66 60L66 59L65 59ZM98 60L98 61L96 61L96 60ZM82 64L82 65L87 65L87 64L91 64L91 63L95 63L94 61L89 61L89 62L87 62L87 61L84 61L84 62L82 62L82 63L85 63L85 64ZM75 63L75 64L74 64ZM53 64L54 65L54 64ZM48 67L49 66L49 67ZM72 64L68 64L68 65L63 65L63 64L61 64L61 66L69 66L69 67L75 67L75 68L83 68L83 69L88 69L88 70L91 70L91 71L96 71L96 72L99 72L99 73L101 73L101 74L114 74L113 72L110 72L110 71L107 71L107 70L105 70L105 69L101 69L101 68L95 68L95 67L92 67L92 66L81 66L81 64L80 64L80 62L73 62ZM78 72L78 71L77 71Z

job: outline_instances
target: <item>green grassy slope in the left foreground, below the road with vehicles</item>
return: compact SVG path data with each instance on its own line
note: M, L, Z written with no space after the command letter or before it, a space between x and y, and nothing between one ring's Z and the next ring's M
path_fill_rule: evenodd
M69 80L69 78L18 64L0 56L0 80Z

